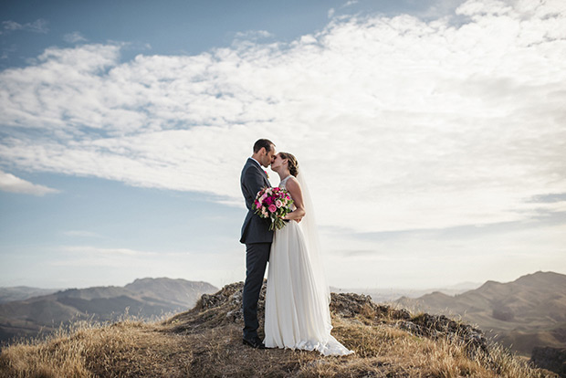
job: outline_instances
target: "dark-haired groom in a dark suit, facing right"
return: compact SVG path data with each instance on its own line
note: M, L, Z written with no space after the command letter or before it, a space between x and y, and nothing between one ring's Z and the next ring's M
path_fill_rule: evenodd
M273 240L273 231L269 231L267 219L260 218L252 210L257 192L271 186L267 168L275 160L275 144L267 139L260 139L254 144L254 153L247 159L240 176L242 194L246 199L247 215L242 226L240 243L246 244L246 282L242 293L242 310L244 312L244 344L253 348L265 348L257 336L257 299L266 272L269 250Z

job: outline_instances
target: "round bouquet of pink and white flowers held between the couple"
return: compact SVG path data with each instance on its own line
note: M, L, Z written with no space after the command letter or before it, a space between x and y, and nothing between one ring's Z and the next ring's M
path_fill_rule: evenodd
M253 210L260 217L271 220L269 230L280 230L285 226L283 217L291 212L291 204L293 200L285 189L263 188L257 193Z

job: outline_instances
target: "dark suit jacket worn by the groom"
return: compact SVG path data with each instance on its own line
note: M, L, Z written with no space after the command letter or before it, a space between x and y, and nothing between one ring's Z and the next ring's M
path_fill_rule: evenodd
M242 226L240 243L271 243L273 241L273 231L269 231L269 221L260 218L252 210L252 205L256 199L257 192L266 186L271 186L267 180L267 174L253 159L248 158L242 175L240 176L240 186L242 194L246 199L247 215Z

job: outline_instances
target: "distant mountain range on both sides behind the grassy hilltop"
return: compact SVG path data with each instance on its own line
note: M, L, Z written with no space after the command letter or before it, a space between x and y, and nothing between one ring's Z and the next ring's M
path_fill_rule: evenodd
M467 283L443 292L429 291L430 294L419 298L409 298L419 293L411 290L394 301L393 297L401 290L352 291L369 294L376 302L393 301L409 310L459 316L523 356L529 356L535 347L566 348L565 275L537 272L508 283L487 281L477 286ZM466 287L477 289L466 290ZM39 331L55 331L61 324L75 320L117 320L126 312L142 319L157 318L191 309L202 294L216 290L205 282L171 278L142 278L124 287L56 292L27 287L0 288L0 342L37 336ZM459 293L451 295L454 292Z

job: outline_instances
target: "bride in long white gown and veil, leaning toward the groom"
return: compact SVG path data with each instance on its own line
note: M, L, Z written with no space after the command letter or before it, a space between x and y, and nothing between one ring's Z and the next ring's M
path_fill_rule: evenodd
M271 169L287 189L295 210L287 226L276 230L267 273L264 343L267 348L353 353L330 335L330 290L319 257L317 231L304 177L295 156L279 152ZM300 226L299 226L299 222Z

